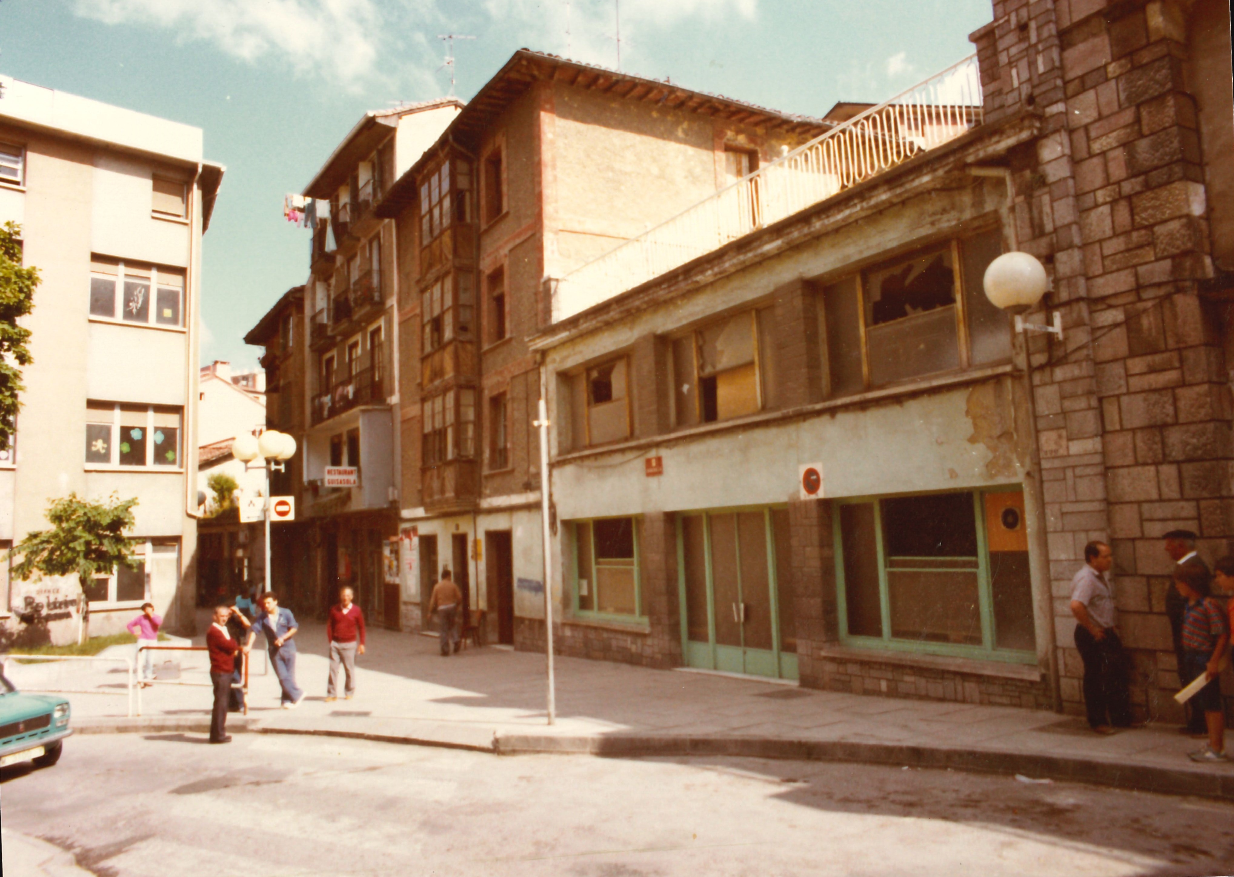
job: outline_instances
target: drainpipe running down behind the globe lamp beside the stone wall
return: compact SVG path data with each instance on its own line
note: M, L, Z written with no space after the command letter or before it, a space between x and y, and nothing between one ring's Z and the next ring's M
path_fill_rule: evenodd
M1011 170L1000 167L970 165L974 176L1000 179L1007 189L1007 197L998 208L998 218L1007 236L1011 250L1019 249L1016 234L1016 217L1012 213ZM1028 470L1024 472L1024 517L1029 527L1028 567L1034 582L1040 582L1033 598L1033 622L1038 630L1038 661L1046 667L1050 682L1050 699L1055 712L1062 712L1062 693L1059 687L1059 650L1054 632L1054 587L1050 576L1050 545L1045 519L1045 490L1041 482L1041 449L1037 437L1037 397L1033 393L1033 360L1028 352L1028 339L1023 334L1012 336L1012 363L1023 373L1023 389L1028 407ZM1044 655L1041 654L1044 650Z

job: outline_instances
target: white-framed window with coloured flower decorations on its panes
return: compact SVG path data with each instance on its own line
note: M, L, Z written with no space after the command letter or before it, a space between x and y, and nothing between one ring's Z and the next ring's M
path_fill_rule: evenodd
M180 466L180 408L88 401L88 466Z

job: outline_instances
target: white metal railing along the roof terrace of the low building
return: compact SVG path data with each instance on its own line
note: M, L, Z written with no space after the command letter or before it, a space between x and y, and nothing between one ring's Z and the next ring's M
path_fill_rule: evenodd
M574 269L558 284L553 318L634 289L980 123L981 80L970 56Z

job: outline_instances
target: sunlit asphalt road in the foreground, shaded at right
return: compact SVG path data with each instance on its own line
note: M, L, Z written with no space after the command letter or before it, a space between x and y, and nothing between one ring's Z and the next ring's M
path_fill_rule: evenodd
M755 759L95 735L0 771L0 808L6 845L39 838L116 877L1234 872L1234 805Z

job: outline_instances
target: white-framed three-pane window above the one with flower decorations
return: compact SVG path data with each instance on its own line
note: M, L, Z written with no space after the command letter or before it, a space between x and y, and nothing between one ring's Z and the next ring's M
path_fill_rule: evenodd
M184 326L184 270L94 257L90 316L146 326Z

